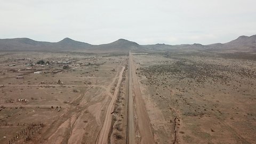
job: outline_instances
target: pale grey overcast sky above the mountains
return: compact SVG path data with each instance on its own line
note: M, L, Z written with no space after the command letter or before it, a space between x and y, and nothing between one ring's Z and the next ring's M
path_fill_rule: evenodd
M225 43L256 34L255 0L0 0L0 38Z

